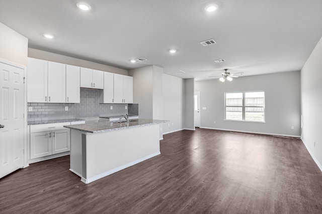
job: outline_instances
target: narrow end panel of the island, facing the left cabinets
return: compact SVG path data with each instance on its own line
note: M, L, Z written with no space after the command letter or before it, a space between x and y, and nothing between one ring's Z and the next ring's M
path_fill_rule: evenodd
M82 177L82 132L70 129L70 171Z

